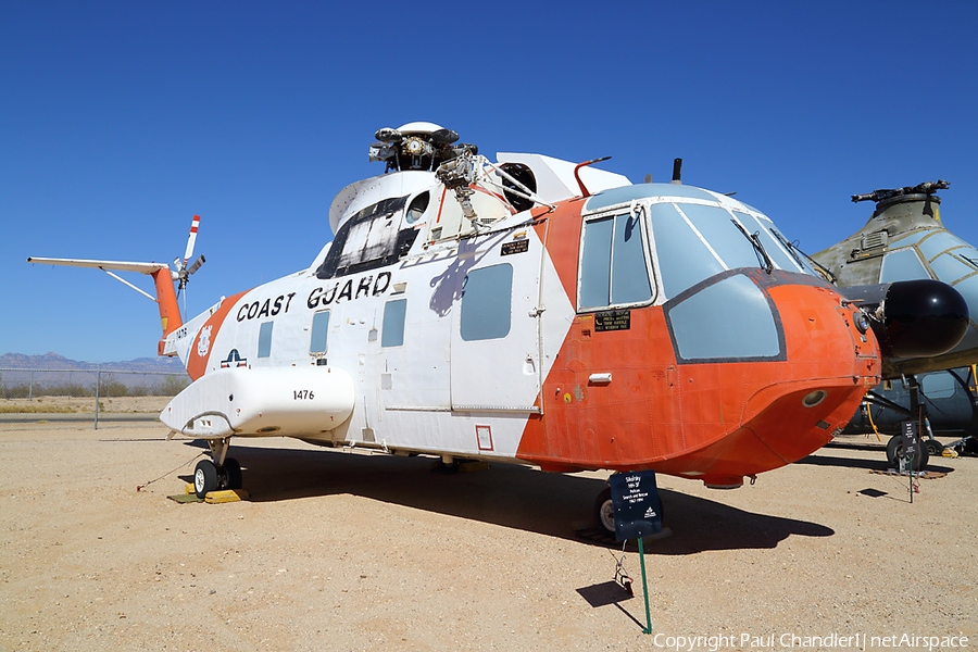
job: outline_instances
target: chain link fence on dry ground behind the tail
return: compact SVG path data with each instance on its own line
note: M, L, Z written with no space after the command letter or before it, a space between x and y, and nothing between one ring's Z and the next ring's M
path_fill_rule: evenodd
M0 426L155 421L189 384L173 372L0 368Z

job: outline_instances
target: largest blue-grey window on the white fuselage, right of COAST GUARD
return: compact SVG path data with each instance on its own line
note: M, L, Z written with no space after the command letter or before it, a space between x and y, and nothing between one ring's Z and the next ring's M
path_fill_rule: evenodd
M473 269L462 284L460 324L465 341L506 337L513 304L513 266Z

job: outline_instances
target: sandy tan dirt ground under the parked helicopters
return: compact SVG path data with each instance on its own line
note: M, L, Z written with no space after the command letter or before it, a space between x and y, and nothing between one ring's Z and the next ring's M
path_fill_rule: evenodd
M865 446L734 491L661 476L650 636L638 553L627 599L620 551L575 534L606 474L265 439L233 447L247 502L178 504L202 449L166 434L0 423L0 650L978 645L976 459L937 460L913 504Z

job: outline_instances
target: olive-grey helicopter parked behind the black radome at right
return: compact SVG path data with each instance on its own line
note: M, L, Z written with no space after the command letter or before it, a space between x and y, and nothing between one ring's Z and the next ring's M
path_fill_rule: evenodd
M976 398L969 383L975 377L973 365L978 363L974 316L978 315L978 250L950 233L941 221L937 192L948 188L950 184L939 179L853 195L853 202L876 204L869 220L852 236L813 255L841 287L933 279L956 289L968 304L970 318L962 341L929 358L888 359L882 368L885 383L866 394L847 427L847 432L873 429L893 434L887 443L887 461L893 467L902 456L899 428L903 421L919 421L920 431L930 435L915 460L917 469L927 465L929 455L943 450L933 429L975 431ZM902 388L893 387L896 379ZM933 427L931 417L937 417Z

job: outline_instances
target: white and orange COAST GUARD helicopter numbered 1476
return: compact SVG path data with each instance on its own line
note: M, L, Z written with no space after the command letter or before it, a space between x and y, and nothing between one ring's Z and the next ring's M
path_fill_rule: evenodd
M186 323L196 216L176 269L28 259L153 277L159 354L192 378L160 418L210 444L200 497L241 486L234 438L271 436L737 487L840 431L881 355L946 351L968 325L950 286L842 290L766 215L678 178L492 163L431 123L376 139L387 171L339 192L308 268ZM613 532L606 490L595 510Z

